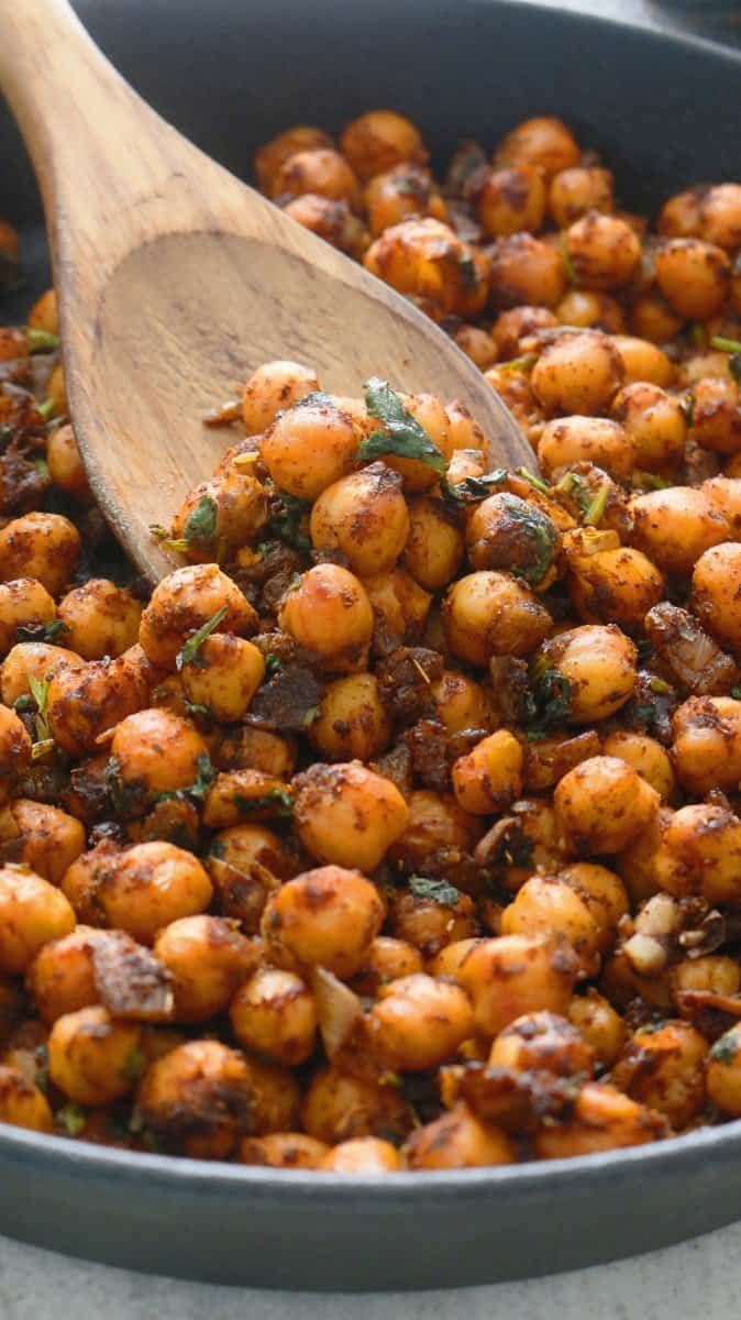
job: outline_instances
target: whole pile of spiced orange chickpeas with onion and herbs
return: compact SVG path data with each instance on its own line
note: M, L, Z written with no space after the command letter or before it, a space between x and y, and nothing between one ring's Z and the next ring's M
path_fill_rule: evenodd
M386 1173L741 1117L741 185L653 232L558 119L435 180L392 111L256 174L531 470L403 379L266 363L149 593L54 293L0 330L0 1119Z

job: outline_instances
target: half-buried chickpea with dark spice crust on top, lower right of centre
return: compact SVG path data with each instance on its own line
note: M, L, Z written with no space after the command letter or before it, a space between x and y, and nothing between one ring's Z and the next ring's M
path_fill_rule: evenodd
M556 1077L592 1077L595 1056L567 1018L529 1012L496 1038L489 1063L513 1072L547 1072Z

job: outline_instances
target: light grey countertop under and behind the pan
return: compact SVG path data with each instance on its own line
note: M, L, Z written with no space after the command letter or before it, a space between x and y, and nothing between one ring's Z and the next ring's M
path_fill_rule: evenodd
M355 0L348 0L355 3ZM401 0L403 3L403 0ZM523 0L526 3L526 0ZM741 0L543 0L741 44ZM74 1213L74 1206L70 1206ZM189 1284L69 1261L0 1239L0 1320L737 1320L741 1225L633 1261L494 1287L377 1296Z

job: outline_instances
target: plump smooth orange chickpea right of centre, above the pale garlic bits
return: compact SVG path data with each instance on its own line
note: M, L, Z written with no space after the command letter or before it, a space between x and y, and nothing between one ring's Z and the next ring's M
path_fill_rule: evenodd
M580 853L620 853L655 814L659 795L617 756L591 756L554 793L556 817Z

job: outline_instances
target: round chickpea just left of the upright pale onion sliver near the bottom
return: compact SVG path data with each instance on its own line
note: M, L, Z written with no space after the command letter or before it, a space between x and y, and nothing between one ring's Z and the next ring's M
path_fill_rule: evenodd
M233 997L229 1019L240 1045L276 1063L294 1068L314 1051L316 1006L294 972L260 968Z

